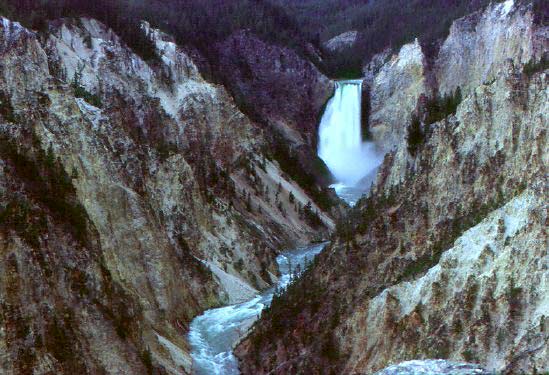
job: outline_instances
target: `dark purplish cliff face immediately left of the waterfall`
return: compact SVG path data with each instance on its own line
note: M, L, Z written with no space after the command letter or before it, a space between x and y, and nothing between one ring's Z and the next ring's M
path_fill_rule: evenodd
M239 107L270 129L272 142L289 150L286 153L296 159L301 174L327 185L329 173L316 156L316 137L333 82L294 50L269 44L248 31L231 35L217 51L226 85Z

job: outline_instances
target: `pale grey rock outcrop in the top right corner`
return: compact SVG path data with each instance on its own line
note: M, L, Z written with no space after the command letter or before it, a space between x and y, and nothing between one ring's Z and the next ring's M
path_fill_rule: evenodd
M547 30L534 23L532 4L493 4L453 23L436 60L439 93L460 87L468 94L495 79L507 60L539 60L548 47Z

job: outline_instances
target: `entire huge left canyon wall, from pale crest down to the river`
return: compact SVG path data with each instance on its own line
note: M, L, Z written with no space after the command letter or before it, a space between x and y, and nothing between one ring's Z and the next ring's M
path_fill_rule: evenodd
M37 35L2 18L4 372L189 372L190 319L267 287L275 249L333 226L314 202L319 221L303 213L312 199L265 158L264 129L143 29L155 61L91 19Z

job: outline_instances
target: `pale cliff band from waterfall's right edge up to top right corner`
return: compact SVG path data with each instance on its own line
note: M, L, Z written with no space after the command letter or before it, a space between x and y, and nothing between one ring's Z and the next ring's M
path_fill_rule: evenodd
M388 51L374 56L363 69L373 139L383 152L396 149L421 97L450 96L458 88L470 94L509 59L526 64L546 51L547 30L534 22L532 5L509 0L455 21L432 62L417 40L390 59Z

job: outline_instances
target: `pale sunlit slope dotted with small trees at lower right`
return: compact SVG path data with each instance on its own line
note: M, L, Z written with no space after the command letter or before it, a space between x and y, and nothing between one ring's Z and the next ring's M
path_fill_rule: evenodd
M385 289L345 324L345 373L371 373L413 357L481 362L492 371L547 366L546 207L527 189L463 233L422 277ZM358 371L357 371L358 370Z

